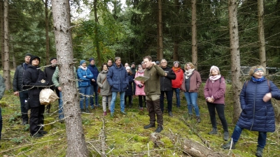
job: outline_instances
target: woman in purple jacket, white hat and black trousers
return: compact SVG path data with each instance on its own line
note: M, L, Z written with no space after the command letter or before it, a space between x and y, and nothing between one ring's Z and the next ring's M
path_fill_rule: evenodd
M223 125L223 140L228 140L228 122L225 119L225 79L221 76L217 66L211 66L209 78L204 86L204 97L207 101L207 107L210 114L212 130L210 135L217 134L216 112Z

